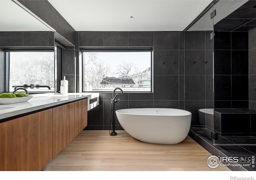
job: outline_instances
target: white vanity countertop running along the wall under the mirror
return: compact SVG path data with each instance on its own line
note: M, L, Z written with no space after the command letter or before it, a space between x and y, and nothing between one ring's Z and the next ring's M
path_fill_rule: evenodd
M44 94L33 94L33 97L27 102L14 103L14 104L1 104L0 105L0 122L4 122L4 119L9 120L11 117L18 115L30 113L33 111L38 111L41 109L54 107L61 105L63 103L69 103L79 99L88 98L88 111L97 105L99 105L99 93L68 93L54 94L54 93L44 93ZM90 99L97 98L97 101L90 104ZM2 120L2 121L1 121Z

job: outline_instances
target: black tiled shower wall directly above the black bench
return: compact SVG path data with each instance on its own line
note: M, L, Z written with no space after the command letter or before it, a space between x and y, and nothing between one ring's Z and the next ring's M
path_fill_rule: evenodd
M248 107L248 32L216 32L214 108Z

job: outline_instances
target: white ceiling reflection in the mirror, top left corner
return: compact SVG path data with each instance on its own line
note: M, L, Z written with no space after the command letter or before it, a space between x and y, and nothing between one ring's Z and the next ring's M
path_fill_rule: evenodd
M0 31L51 31L11 0L0 0Z

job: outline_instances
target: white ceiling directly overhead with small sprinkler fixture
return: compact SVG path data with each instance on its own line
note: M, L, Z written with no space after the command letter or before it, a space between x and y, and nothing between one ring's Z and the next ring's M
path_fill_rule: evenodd
M48 1L76 31L182 31L212 2L212 0Z

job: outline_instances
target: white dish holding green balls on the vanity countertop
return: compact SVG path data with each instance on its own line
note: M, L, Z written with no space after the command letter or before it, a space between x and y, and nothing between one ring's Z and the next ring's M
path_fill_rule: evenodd
M32 97L26 93L1 93L0 104L22 103L30 100Z

